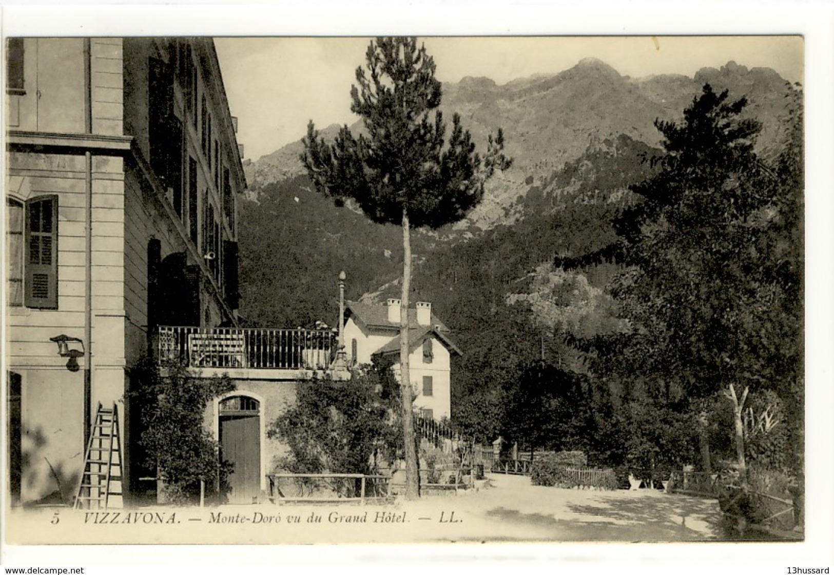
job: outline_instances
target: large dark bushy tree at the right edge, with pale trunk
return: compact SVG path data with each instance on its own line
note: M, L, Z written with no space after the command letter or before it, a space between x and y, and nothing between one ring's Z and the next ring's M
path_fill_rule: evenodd
M753 150L760 126L741 117L745 106L707 84L683 122L656 122L660 171L631 187L641 202L615 219L618 240L557 260L626 266L610 290L631 331L597 351L620 376L661 388L679 406L681 396L725 390L741 471L748 387L785 396L801 364L798 131L788 130L791 152L773 169Z

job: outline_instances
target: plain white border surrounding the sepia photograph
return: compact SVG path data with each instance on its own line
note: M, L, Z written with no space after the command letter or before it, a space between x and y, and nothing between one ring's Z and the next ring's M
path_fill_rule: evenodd
M325 16L326 15L326 16ZM832 251L831 135L834 77L834 7L825 2L582 2L536 3L313 2L292 4L181 3L176 6L113 6L97 3L6 4L3 35L708 35L795 34L806 38L806 424L808 443L807 517L803 543L704 544L538 544L496 546L5 546L0 562L29 566L113 565L138 572L153 563L201 572L260 565L281 570L299 563L368 568L409 562L420 568L502 571L518 563L562 563L556 568L591 572L676 573L785 572L786 567L831 567L834 505L831 477L831 337L834 315ZM811 457L813 454L813 458ZM821 462L815 461L819 457ZM491 562L485 562L485 561ZM476 564L473 565L473 562ZM511 565L512 564L512 565ZM271 567L270 567L271 566ZM536 568L535 565L530 565ZM405 568L405 567L397 567ZM163 568L164 571L164 568ZM173 572L173 568L170 569ZM96 571L92 571L96 572Z

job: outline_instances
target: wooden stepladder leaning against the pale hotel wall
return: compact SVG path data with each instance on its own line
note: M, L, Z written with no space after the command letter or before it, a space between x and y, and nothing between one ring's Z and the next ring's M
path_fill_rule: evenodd
M118 408L98 404L96 421L90 429L84 472L78 486L74 509L107 509L110 496L122 497L122 450L118 432Z

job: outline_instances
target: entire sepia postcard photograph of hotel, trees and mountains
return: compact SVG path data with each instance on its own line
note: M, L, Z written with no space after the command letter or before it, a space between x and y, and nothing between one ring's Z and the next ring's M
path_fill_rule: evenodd
M830 534L802 33L169 29L3 35L5 545Z

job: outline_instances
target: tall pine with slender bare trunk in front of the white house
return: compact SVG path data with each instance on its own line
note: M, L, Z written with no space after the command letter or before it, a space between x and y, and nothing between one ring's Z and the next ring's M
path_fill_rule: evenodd
M403 229L403 282L399 320L399 365L405 443L406 497L419 497L417 452L409 379L410 229L456 222L480 202L495 169L510 165L501 130L487 152L475 153L460 116L452 117L449 140L440 106L434 59L415 38L377 38L365 68L356 70L351 111L363 119L367 137L345 125L333 144L319 138L313 122L304 138L302 161L316 189L337 204L359 205L378 224Z

